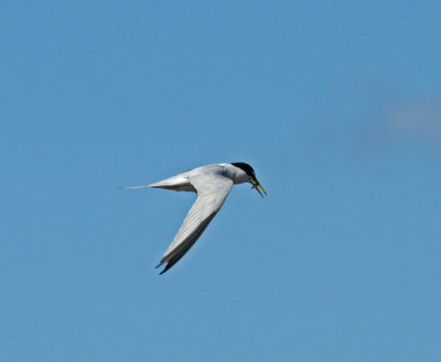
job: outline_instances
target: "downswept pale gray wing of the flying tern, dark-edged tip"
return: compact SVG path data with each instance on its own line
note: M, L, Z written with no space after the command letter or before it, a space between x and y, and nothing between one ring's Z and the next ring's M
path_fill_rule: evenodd
M186 215L176 237L157 266L168 263L160 274L165 273L176 264L194 245L223 206L233 187L233 182L229 178L216 174L193 176L190 178L190 183L196 189L197 198Z

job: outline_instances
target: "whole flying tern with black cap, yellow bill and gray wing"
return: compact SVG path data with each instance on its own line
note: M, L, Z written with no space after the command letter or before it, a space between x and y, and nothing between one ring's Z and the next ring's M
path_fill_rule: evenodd
M252 167L244 162L220 163L185 171L176 176L146 186L129 186L136 188L165 188L175 191L196 193L197 198L186 215L181 229L165 251L157 267L165 264L163 274L176 264L194 245L208 223L219 211L233 185L250 183L261 197L267 195L263 186L256 178ZM260 189L261 191L260 191Z

